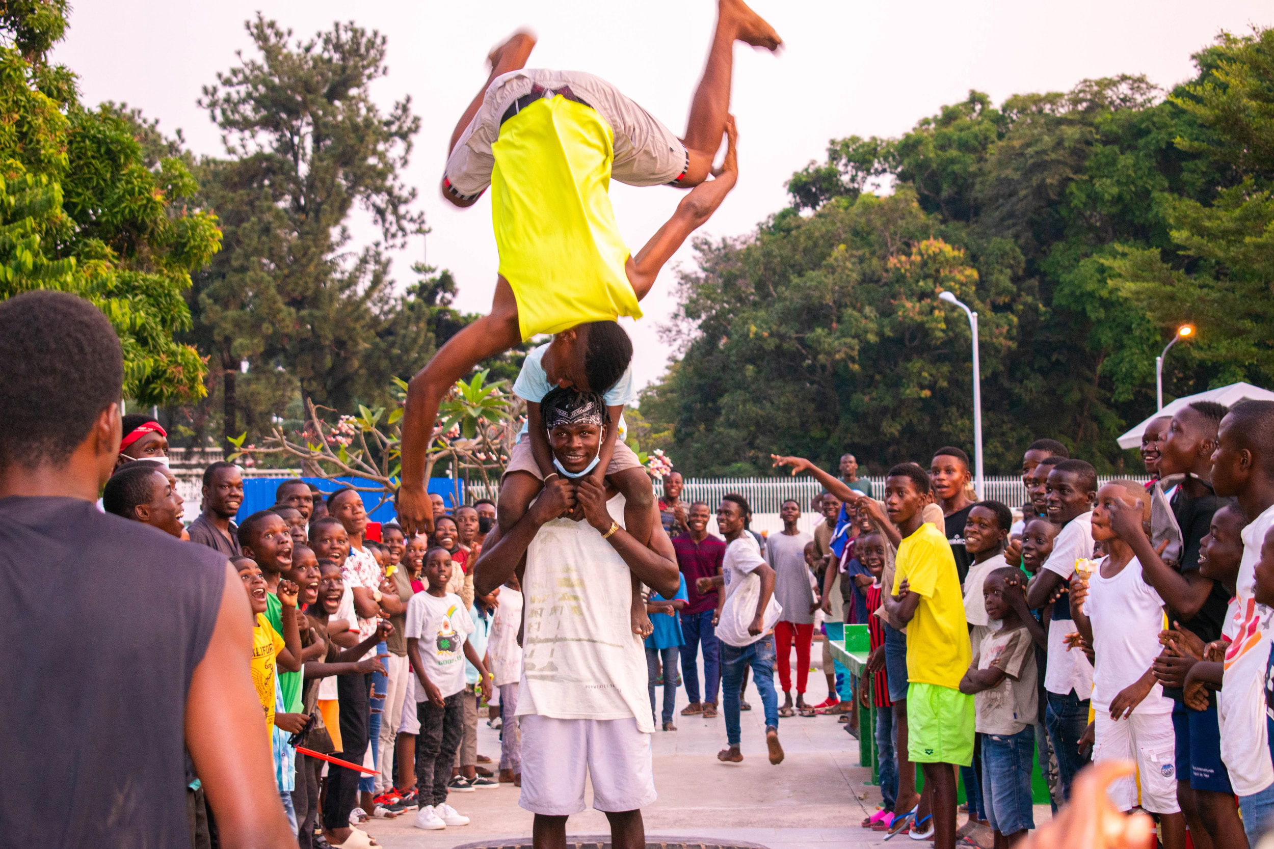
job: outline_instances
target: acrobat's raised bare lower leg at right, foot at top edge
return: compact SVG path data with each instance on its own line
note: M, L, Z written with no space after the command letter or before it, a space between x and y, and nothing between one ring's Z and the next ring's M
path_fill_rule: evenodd
M697 186L712 171L712 159L725 136L730 113L730 79L734 74L734 42L753 47L778 50L782 39L761 15L743 0L719 0L717 25L708 48L707 66L691 101L691 117L685 127L685 149L691 155L689 169L679 186Z

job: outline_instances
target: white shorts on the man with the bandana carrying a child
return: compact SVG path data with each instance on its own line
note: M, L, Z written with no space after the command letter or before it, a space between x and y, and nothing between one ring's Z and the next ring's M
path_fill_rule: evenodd
M592 807L618 813L655 802L650 734L636 719L519 717L522 729L522 796L531 813L571 816L583 811L585 775Z

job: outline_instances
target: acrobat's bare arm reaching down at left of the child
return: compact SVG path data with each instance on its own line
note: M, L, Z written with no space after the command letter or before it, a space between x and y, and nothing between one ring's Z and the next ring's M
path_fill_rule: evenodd
M507 351L521 340L517 302L508 281L501 277L496 283L490 313L447 340L408 384L403 412L403 484L397 494L399 523L408 536L433 532L433 505L424 489L424 466L443 396L474 365Z

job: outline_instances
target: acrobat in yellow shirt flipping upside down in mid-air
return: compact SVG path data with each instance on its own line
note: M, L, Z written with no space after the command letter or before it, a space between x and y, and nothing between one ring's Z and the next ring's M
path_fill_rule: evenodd
M397 499L406 533L432 526L423 477L438 403L479 361L531 336L557 333L553 356L545 359L558 364L549 375L558 386L606 392L622 374L628 358L618 370L605 361L615 359L612 351L623 335L615 319L641 316L637 304L660 269L716 211L738 177L729 116L735 41L772 51L781 43L741 0L719 0L716 33L684 139L605 80L524 70L535 45L526 33L489 56L489 84L452 134L442 192L452 204L469 206L490 186L499 279L490 313L452 336L412 379ZM725 162L713 169L722 136ZM610 205L612 178L693 188L631 255ZM540 448L536 457L547 457L547 446Z

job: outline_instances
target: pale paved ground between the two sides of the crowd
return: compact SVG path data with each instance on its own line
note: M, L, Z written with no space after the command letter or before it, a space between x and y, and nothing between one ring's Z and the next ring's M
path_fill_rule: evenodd
M820 657L814 647L814 657ZM775 681L777 686L777 676ZM761 696L748 685L753 710L743 714L741 764L722 764L716 752L725 745L725 720L676 715L678 731L657 732L654 737L655 787L659 801L643 811L648 840L657 836L697 836L711 840L738 840L763 844L772 849L864 849L885 845L880 834L859 827L862 817L877 808L879 789L866 784L869 773L859 766L857 741L845 733L836 717L782 719L778 736L786 760L772 766L766 757L764 719ZM827 695L826 678L812 672L812 701ZM659 691L660 698L662 691ZM676 709L685 705L685 691L678 692ZM499 760L498 732L479 723L478 751ZM448 803L473 818L468 826L443 831L412 827L414 815L391 821L372 821L366 827L387 849L422 846L451 849L479 840L525 838L531 834L531 815L517 807L517 789L505 784L498 789L454 793ZM589 796L591 804L591 794ZM1036 806L1036 824L1049 818L1047 806ZM964 816L961 815L961 822ZM606 818L589 810L571 817L571 835L606 835ZM916 845L905 835L889 846ZM933 845L924 841L924 845Z

